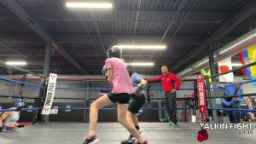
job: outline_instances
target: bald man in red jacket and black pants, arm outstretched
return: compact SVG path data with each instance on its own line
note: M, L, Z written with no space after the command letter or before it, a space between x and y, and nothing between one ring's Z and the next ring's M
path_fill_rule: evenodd
M161 72L163 75L161 75L159 78L152 78L148 79L148 83L150 82L162 82L162 87L165 91L165 105L166 105L166 112L170 118L169 125L173 126L177 124L177 118L176 118L176 110L177 110L177 104L176 104L176 91L180 88L180 85L182 83L180 78L177 78L177 76L171 72L168 72L167 66L161 67ZM172 82L176 82L175 88L172 86Z

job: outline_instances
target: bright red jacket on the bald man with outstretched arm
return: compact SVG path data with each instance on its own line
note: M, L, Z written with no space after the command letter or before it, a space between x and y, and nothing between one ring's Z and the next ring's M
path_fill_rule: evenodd
M161 75L159 78L151 78L147 80L148 83L158 82L158 81L162 82L162 87L165 92L169 92L173 89L172 81L176 82L176 86L175 86L176 90L179 89L180 85L182 84L181 79L177 78L177 76L171 72L168 72L167 76Z

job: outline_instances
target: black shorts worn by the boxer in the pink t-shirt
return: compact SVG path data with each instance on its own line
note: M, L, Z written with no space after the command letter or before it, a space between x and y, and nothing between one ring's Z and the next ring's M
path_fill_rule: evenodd
M131 99L131 95L127 93L120 93L120 94L108 93L108 99L113 103L128 104Z

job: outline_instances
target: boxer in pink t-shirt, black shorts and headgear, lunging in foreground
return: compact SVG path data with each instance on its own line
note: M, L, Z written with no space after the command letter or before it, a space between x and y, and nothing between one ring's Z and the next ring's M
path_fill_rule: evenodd
M148 144L147 141L139 134L133 124L126 119L126 112L131 94L135 92L132 87L129 73L121 59L122 50L117 47L111 47L107 50L108 59L105 61L106 69L102 69L103 74L106 74L108 82L113 84L112 92L108 95L103 95L96 101L90 104L90 122L88 136L84 144L95 144L99 141L96 135L96 124L98 120L98 111L102 107L118 103L118 122L122 124L131 135L137 138L138 144ZM104 66L103 66L104 67Z

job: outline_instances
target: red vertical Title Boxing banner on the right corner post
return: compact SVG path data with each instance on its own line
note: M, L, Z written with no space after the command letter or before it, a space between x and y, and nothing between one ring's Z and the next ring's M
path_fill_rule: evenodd
M198 108L201 114L207 114L207 96L204 77L197 76Z

